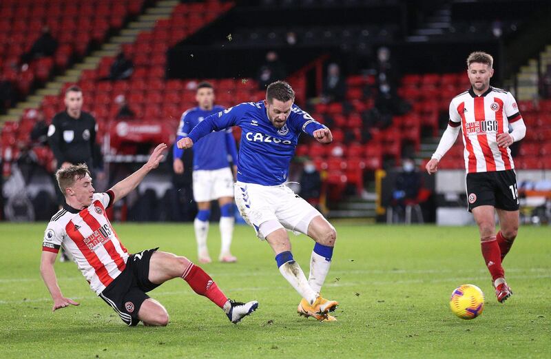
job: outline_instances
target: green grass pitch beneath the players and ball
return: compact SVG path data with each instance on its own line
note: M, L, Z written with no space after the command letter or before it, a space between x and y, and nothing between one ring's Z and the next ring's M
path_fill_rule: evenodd
M296 313L298 294L280 276L267 243L236 227L236 264L202 267L225 294L260 302L232 325L183 280L150 293L167 327L125 327L96 298L74 263L56 263L63 294L79 307L52 313L39 275L45 223L0 225L0 358L549 358L551 231L521 227L504 267L514 295L501 305L480 254L475 227L346 225L323 295L338 300L337 322ZM189 224L115 224L130 252L159 246L196 260ZM291 234L306 276L313 241ZM218 256L218 227L209 248ZM448 307L455 287L474 284L486 307L475 320Z

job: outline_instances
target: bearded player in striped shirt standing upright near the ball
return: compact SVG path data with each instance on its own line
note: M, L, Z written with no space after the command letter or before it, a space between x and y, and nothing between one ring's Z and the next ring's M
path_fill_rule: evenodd
M526 134L526 126L510 92L490 86L493 59L486 52L472 52L467 74L472 87L450 103L450 121L432 158L429 174L463 131L467 170L468 210L479 227L482 256L492 275L497 300L512 295L501 263L519 229L517 178L509 146ZM512 127L510 132L509 127ZM495 212L500 231L495 234Z

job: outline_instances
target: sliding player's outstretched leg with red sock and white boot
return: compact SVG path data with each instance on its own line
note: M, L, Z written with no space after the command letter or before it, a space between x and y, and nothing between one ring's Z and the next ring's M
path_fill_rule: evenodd
M196 294L205 296L225 311L229 320L239 322L258 308L258 302L242 303L230 300L201 267L185 257L155 252L149 263L149 280L160 284L171 278L182 278Z

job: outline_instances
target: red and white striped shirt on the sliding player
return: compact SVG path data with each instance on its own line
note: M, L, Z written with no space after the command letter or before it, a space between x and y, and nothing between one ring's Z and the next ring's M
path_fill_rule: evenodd
M82 210L65 204L48 223L42 244L43 251L54 253L63 245L98 295L125 269L129 256L105 213L113 197L111 191L96 193Z

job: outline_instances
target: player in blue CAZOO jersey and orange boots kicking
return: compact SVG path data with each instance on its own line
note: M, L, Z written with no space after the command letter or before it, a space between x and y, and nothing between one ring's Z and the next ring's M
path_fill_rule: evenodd
M200 139L213 130L241 127L235 185L239 211L258 238L267 240L282 276L302 296L298 313L318 320L335 320L329 312L338 303L322 298L320 290L331 266L337 232L317 209L284 185L300 133L309 134L320 143L331 143L333 136L329 128L300 110L294 101L291 86L276 81L268 86L266 100L241 103L207 117L177 145L200 145ZM286 229L315 240L308 280L293 259Z

